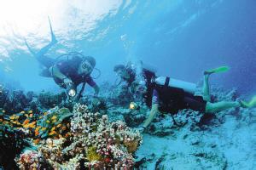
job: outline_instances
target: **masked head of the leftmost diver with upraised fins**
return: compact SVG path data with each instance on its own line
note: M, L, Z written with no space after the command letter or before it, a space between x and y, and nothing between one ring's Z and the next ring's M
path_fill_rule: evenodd
M96 65L96 60L91 56L86 56L83 58L79 65L79 74L90 75Z

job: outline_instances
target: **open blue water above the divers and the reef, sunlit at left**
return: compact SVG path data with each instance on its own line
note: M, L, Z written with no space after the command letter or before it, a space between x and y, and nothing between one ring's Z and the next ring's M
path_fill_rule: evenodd
M38 62L23 41L26 37L35 51L47 44L49 16L59 42L48 55L55 58L79 51L94 56L102 71L96 82L113 82L113 65L136 59L154 65L158 75L189 82L199 82L207 69L229 65L231 70L212 76L212 83L237 88L241 94L255 94L254 0L114 0L109 1L115 4L111 8L102 1L89 10L104 8L100 15L84 14L83 7L79 8L83 1L75 2L63 1L52 13L31 15L23 34L19 25L2 22L6 34L0 34L1 82L25 90L59 89L53 80L38 76ZM31 31L31 26L37 28ZM42 27L44 31L38 31ZM23 28L26 30L26 25Z

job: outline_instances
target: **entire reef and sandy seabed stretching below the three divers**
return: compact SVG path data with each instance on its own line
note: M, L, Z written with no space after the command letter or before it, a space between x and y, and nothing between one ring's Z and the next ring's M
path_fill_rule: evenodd
M158 114L142 143L131 127L142 125L148 108L112 99L110 91L84 96L79 105L61 94L41 93L39 100L0 87L0 168L253 169L255 109ZM239 99L236 90L212 92L213 102ZM129 108L131 101L137 106Z

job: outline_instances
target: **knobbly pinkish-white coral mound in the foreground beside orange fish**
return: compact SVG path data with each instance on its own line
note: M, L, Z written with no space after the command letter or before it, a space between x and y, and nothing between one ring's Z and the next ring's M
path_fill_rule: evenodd
M63 109L62 109L63 110ZM67 110L66 110L67 111ZM62 112L55 108L51 113ZM64 111L65 112L65 111ZM68 112L68 111L67 111ZM66 115L69 115L68 113ZM54 115L55 116L55 115ZM48 120L48 118L43 119ZM134 160L132 154L142 143L142 137L135 133L125 122L108 122L108 116L92 113L85 105L74 105L73 117L70 123L70 135L66 138L48 138L38 144L38 153L21 155L17 159L19 167L42 166L46 162L55 169L72 167L87 168L125 168L132 169ZM46 162L22 161L23 157L43 156ZM41 165L42 164L42 165Z

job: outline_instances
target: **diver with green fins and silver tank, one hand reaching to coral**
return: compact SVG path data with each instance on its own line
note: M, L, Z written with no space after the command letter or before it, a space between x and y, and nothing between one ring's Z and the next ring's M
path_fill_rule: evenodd
M143 81L135 82L135 94L143 95L146 105L151 108L150 114L143 127L137 130L141 133L154 120L157 112L175 114L179 110L192 109L204 113L215 113L230 108L252 108L256 106L256 96L250 102L220 101L212 103L209 90L209 77L212 73L228 71L229 67L223 66L204 72L203 96L195 96L196 85L183 82L170 77L156 77L154 71L143 69Z

